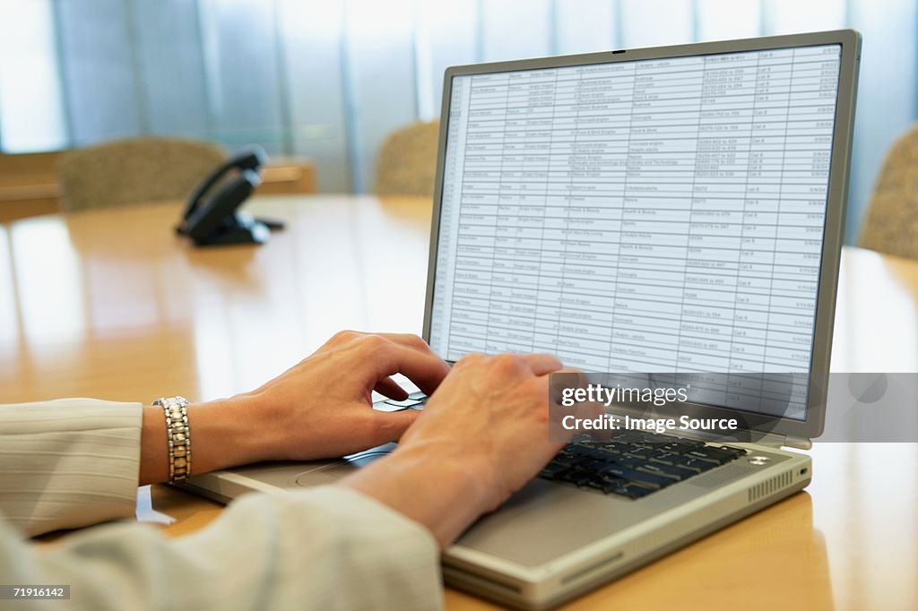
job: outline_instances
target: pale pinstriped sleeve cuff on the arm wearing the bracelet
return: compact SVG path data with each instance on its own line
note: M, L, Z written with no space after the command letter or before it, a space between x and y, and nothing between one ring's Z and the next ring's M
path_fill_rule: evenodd
M0 405L0 513L29 536L133 517L142 405Z

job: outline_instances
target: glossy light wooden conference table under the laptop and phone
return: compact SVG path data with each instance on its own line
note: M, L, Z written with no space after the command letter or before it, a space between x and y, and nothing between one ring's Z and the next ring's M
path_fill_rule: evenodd
M0 225L0 403L249 390L341 328L420 332L431 206L256 198L263 247L192 249L178 205ZM833 369L918 372L918 261L846 248ZM817 444L806 492L570 608L918 608L918 444ZM163 486L181 535L215 503ZM148 512L154 515L152 512ZM491 605L446 590L450 609Z

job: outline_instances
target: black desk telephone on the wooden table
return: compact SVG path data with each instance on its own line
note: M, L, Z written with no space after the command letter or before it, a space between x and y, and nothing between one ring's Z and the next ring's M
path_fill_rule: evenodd
M263 244L271 229L284 228L282 223L237 210L262 183L265 159L264 151L255 148L218 167L188 198L184 219L175 231L191 238L196 246L214 246Z

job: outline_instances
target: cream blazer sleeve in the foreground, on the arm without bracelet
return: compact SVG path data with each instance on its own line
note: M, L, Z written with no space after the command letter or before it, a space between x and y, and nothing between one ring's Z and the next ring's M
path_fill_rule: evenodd
M4 583L70 585L76 610L419 609L442 607L431 533L335 486L249 494L204 530L166 539L119 523L50 546L0 521ZM29 609L59 609L36 601ZM16 607L17 608L17 607Z

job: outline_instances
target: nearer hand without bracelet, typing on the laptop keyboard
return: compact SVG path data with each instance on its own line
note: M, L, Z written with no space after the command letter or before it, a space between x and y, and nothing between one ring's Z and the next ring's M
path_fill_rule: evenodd
M391 456L346 485L430 528L448 545L561 449L548 435L554 356L474 354L456 363Z

